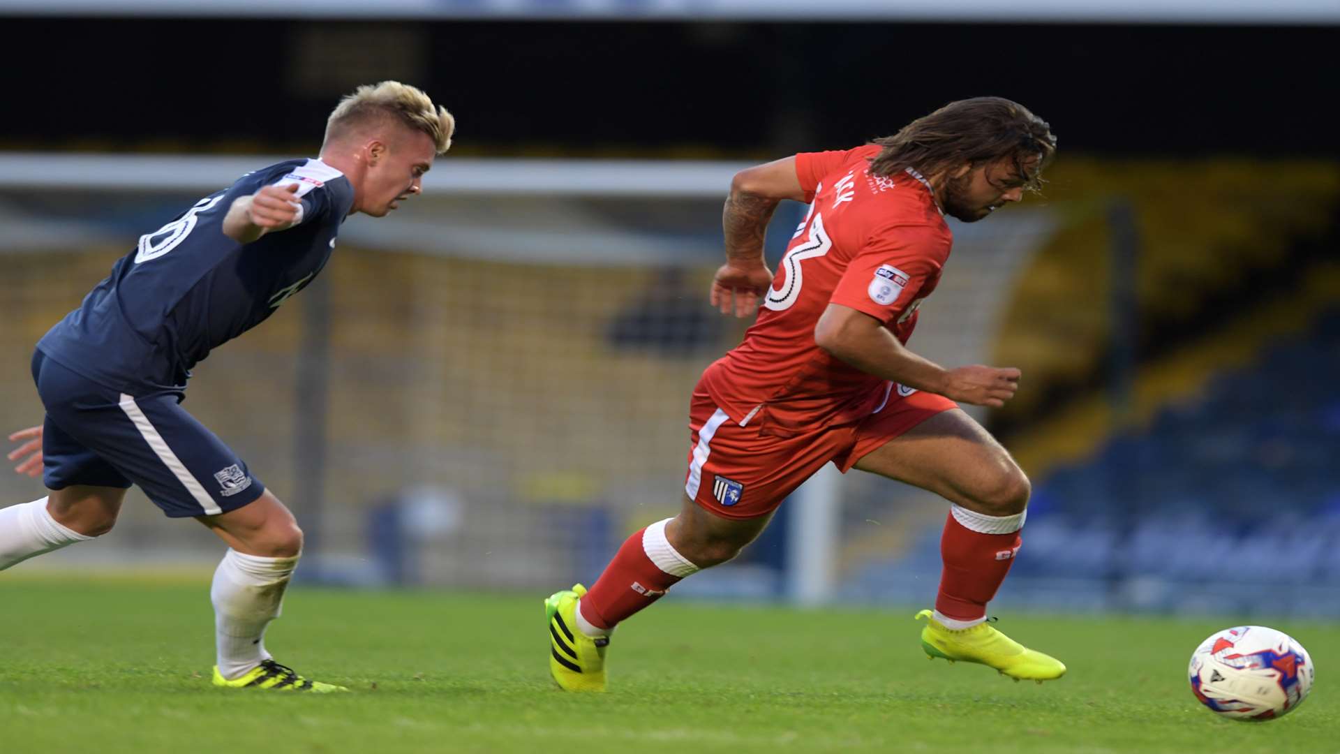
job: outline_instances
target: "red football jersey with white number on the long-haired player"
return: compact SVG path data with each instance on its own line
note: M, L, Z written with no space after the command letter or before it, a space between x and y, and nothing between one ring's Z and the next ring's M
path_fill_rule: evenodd
M930 186L911 172L870 173L876 145L796 156L809 213L777 264L744 342L702 385L737 424L792 435L864 419L890 384L815 345L829 303L875 317L907 342L953 241Z

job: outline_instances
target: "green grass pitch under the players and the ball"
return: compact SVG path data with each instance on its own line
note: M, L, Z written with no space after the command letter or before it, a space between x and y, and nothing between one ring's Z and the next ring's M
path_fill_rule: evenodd
M1340 751L1340 628L1269 621L1320 665L1270 723L1222 720L1187 688L1231 618L1047 618L1000 628L1069 665L1043 686L927 661L914 608L657 605L611 644L611 692L551 687L545 594L295 588L267 637L355 692L214 690L208 578L0 576L0 751Z

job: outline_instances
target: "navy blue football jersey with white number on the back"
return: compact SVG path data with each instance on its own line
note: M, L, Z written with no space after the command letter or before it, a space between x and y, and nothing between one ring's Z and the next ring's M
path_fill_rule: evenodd
M234 199L297 184L299 223L240 244L224 235ZM218 345L264 322L326 266L354 186L320 160L247 173L170 223L139 236L83 305L38 342L50 358L135 394L185 388Z

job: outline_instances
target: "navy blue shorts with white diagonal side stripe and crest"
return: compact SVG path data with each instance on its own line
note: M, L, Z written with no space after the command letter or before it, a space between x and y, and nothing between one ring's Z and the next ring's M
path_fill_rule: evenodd
M129 396L40 350L32 380L47 408L42 460L50 490L138 484L173 518L236 510L265 491L237 453L181 408L180 392Z

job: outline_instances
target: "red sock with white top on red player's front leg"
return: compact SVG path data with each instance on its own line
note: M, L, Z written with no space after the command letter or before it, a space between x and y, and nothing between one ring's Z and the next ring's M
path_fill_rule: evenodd
M990 517L954 506L939 539L945 570L939 578L935 609L941 614L954 620L986 616L986 602L996 596L1018 553L1018 530L1022 526L1024 514ZM1008 533L992 533L1001 530Z

